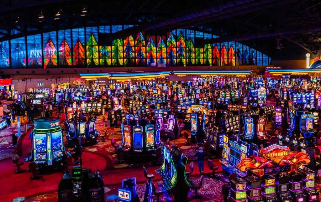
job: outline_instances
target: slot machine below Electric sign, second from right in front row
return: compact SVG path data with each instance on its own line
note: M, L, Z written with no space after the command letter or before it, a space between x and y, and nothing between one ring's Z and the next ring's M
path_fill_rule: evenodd
M293 202L305 202L306 196L302 189L303 174L296 171L290 173L290 193Z

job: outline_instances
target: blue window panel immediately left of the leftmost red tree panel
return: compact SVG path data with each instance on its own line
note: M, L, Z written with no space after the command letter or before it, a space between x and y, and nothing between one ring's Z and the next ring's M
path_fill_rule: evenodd
M27 37L28 67L42 67L41 34Z

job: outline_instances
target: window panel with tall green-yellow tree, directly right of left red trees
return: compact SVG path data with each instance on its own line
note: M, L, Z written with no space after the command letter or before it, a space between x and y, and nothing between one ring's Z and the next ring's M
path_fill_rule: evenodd
M86 28L86 38L87 38L87 67L97 66L98 61L98 28L97 27L87 27Z

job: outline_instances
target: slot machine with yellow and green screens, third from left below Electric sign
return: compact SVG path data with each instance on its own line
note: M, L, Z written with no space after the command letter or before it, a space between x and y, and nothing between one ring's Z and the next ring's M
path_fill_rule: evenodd
M272 202L276 200L275 195L275 177L272 175L265 175L262 177L262 196L263 200Z

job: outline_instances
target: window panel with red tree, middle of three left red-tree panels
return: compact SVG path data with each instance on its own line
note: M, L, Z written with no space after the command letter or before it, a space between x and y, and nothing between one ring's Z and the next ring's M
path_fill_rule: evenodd
M59 67L68 67L72 65L71 54L71 31L70 29L58 31L58 57Z

